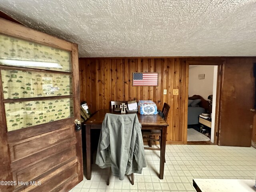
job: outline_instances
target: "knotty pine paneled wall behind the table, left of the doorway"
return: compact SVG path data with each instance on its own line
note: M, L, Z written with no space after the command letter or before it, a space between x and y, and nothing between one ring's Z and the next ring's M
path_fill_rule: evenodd
M186 63L179 58L80 58L81 101L92 112L110 108L112 100L153 100L170 104L168 141L183 142ZM132 72L158 72L158 86L132 86ZM163 91L167 89L167 94ZM179 95L172 95L179 89ZM181 128L182 127L182 128Z

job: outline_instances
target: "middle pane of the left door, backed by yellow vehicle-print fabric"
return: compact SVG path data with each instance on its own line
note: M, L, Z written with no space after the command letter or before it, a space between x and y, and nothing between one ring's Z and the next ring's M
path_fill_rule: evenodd
M72 76L22 70L1 70L4 99L72 94Z

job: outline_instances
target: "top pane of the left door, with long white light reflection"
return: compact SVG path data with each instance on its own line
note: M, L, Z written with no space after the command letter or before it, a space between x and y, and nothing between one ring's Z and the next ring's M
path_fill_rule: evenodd
M0 34L0 64L55 71L72 71L69 51L3 34ZM56 66L53 66L53 64Z

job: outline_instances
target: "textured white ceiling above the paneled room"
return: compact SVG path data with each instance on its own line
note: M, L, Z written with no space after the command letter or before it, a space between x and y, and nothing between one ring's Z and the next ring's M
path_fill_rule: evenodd
M79 57L256 56L255 0L0 0Z

